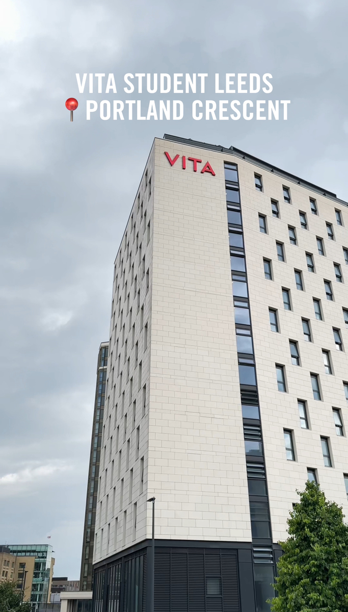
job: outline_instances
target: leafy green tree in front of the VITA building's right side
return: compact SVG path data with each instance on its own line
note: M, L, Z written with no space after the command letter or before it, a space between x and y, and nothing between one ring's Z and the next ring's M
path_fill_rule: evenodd
M342 508L307 481L280 542L273 612L348 612L348 526Z

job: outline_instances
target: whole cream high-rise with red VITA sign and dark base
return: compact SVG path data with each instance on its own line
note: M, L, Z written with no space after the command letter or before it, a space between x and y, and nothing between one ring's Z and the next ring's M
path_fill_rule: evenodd
M346 207L155 139L114 264L95 612L266 612L296 490L348 513Z

